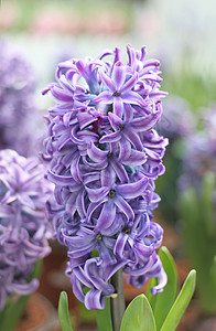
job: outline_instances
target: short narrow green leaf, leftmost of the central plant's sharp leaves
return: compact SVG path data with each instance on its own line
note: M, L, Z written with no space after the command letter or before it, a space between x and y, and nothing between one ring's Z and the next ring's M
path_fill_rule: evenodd
M69 321L67 293L65 291L62 291L60 295L58 320L60 320L62 331L73 331Z

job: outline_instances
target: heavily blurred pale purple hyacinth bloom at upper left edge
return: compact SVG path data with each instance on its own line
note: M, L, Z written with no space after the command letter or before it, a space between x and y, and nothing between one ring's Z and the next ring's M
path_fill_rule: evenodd
M0 148L35 154L35 137L41 134L35 75L24 55L4 40L0 41Z

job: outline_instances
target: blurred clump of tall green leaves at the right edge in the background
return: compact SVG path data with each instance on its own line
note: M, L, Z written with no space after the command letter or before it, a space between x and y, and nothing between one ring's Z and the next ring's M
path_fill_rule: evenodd
M210 177L210 173L205 177L205 183L203 182L205 193L203 192L202 197L197 195L194 188L188 188L182 193L180 201L184 248L191 266L197 271L198 305L202 311L207 313L214 313L216 310L215 280L209 275L216 252L216 238L215 229L210 231L210 222L213 223L214 220L207 220L213 206L210 206L212 202L208 207L207 201L204 202L206 199L204 195L209 196L212 191Z

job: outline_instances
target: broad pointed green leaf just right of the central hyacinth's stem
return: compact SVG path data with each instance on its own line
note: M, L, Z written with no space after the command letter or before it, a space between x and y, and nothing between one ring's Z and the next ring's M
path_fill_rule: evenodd
M120 331L156 331L151 306L144 295L136 297L123 314Z

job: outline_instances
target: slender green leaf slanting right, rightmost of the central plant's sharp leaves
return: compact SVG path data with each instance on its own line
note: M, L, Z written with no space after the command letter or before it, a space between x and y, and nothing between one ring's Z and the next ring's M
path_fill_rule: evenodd
M195 290L196 271L191 270L182 290L180 291L173 307L171 308L161 331L174 331L179 325ZM165 305L165 303L164 303Z

